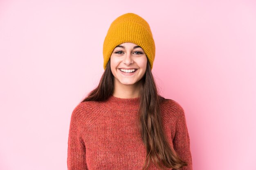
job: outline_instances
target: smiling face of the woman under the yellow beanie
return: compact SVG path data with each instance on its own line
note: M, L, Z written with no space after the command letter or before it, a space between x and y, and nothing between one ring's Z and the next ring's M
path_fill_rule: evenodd
M110 68L115 84L134 85L146 72L147 57L137 44L125 42L117 46L110 56Z

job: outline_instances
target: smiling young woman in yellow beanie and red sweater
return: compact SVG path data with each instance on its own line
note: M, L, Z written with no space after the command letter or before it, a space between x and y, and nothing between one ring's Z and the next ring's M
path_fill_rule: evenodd
M99 85L72 112L69 170L192 170L184 110L158 94L154 58L142 17L126 13L112 22Z

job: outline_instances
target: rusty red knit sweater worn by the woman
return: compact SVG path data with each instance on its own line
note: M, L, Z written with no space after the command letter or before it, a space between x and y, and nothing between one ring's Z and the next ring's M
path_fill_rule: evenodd
M189 164L182 170L192 170L184 110L174 100L162 99L161 116L168 141ZM70 121L68 170L141 170L146 148L137 124L139 101L110 96L104 102L79 103ZM158 170L152 161L149 170Z

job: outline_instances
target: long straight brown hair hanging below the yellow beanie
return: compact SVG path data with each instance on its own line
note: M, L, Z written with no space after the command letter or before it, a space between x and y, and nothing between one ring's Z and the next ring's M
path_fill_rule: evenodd
M140 108L139 108L139 129L141 132L141 139L146 146L146 159L143 169L148 169L150 161L157 166L157 168L165 169L161 165L168 168L179 170L183 166L187 166L187 162L182 160L176 151L171 148L166 138L162 126L162 119L160 116L160 103L163 99L157 92L157 87L153 74L150 70L150 64L147 58L146 73L142 80L140 91ZM106 66L106 70L101 76L98 87L92 90L86 98L81 102L95 100L103 101L112 95L114 91L114 76L110 69L110 60Z

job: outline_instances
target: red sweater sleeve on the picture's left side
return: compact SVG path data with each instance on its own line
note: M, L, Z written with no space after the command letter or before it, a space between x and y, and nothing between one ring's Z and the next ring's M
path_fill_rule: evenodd
M85 159L85 144L80 135L79 120L81 120L81 107L73 110L70 120L70 130L67 147L67 169L87 170Z

